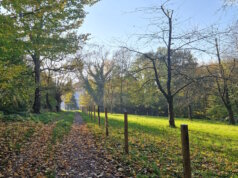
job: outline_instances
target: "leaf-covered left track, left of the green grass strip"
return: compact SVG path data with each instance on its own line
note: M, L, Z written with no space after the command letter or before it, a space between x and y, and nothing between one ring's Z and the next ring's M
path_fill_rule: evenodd
M49 159L50 135L54 125L43 125L25 143L20 153L13 153L3 170L4 177L32 177L38 176L47 169Z

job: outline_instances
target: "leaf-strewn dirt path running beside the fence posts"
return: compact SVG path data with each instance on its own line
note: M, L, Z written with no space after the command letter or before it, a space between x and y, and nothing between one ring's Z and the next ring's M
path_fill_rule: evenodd
M79 113L76 113L72 130L59 146L55 158L56 177L125 177L118 171L119 165L106 158L105 150L97 149Z

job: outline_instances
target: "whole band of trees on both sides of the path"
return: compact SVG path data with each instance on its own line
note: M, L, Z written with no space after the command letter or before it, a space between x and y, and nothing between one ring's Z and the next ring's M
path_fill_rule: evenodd
M80 100L84 106L168 116L171 127L175 127L175 115L228 118L235 124L237 24L227 30L229 33L187 31L165 3L143 9L158 15L148 33L137 38L156 46L153 50L146 45L143 50L123 46L104 52L102 47L90 46L87 51L81 47L88 35L79 35L76 30L85 17L84 7L96 1L1 1L1 111L60 111L62 100L68 108L77 109L72 81L77 77L84 87ZM226 36L229 44L214 41L219 35ZM209 56L206 63L198 62L203 56L195 50ZM78 53L81 55L77 57Z

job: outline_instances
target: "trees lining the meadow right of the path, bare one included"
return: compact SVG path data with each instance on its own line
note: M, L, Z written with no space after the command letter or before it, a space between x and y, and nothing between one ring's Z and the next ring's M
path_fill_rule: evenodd
M177 23L174 11L165 5L146 9L150 14L158 14L158 18L153 18L150 24L152 32L139 36L145 44L157 45L157 50L142 52L137 46L122 46L111 53L112 63L102 60L108 57L100 53L81 56L77 73L86 90L83 103L102 105L105 101L103 105L111 112L125 109L130 113L168 115L171 127L175 127L175 114L190 119L218 118L217 109L217 113L211 112L216 103L222 107L219 112L226 110L222 118L228 115L234 124L232 118L238 111L236 62L222 61L218 46L214 57L214 51L208 47L211 44L208 39L223 32L211 32L210 28L187 31ZM220 59L215 63L207 59L202 64L198 62L203 60L202 56L195 51ZM106 64L110 67L106 68Z

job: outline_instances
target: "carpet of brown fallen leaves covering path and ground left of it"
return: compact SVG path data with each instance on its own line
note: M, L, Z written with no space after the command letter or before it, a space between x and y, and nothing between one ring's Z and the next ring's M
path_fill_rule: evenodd
M55 123L0 123L0 177L124 177L122 166L77 119L69 135L55 144ZM16 151L12 145L17 143Z

